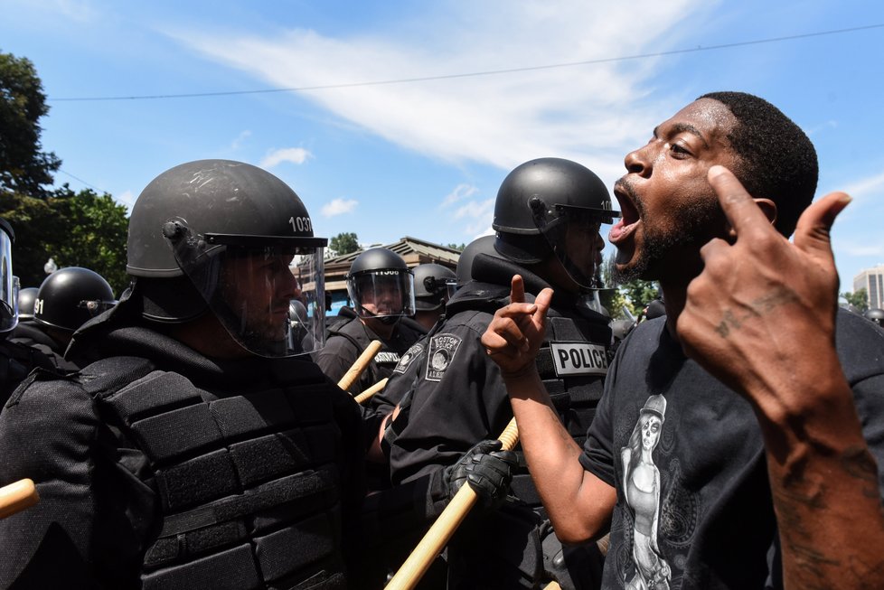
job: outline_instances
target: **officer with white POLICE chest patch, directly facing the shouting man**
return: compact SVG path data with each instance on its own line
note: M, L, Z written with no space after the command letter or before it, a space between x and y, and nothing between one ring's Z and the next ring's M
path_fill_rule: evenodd
M480 342L494 311L508 301L513 275L524 278L531 295L555 289L538 362L560 418L582 442L611 342L607 317L591 309L604 248L599 229L616 216L605 184L568 160L532 160L503 180L494 208L498 256L475 256L474 280L451 298L446 320L412 361L413 383L384 437L394 486L421 482L428 516L447 503L447 467L499 435L513 417L500 372ZM563 587L596 584L597 548L562 550L523 467L513 478L515 498L467 520L449 544L449 587L540 587L552 579Z

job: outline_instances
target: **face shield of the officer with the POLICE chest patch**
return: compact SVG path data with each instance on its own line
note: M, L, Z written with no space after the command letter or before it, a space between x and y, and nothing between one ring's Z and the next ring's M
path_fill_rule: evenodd
M574 282L587 289L601 288L598 272L605 239L600 229L602 224L613 223L620 213L577 205L548 205L537 196L528 203L534 225Z

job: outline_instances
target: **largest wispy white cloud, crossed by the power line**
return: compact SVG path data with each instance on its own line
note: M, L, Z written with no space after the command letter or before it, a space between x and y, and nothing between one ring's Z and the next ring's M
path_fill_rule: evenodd
M274 35L205 28L173 34L270 86L315 88L602 60L650 48L661 52L691 33L690 26L675 24L709 9L700 0L441 2L428 5L431 14L395 23L395 34L333 38L303 29ZM446 161L512 169L531 158L560 156L587 164L613 183L623 155L686 99L657 97L645 87L659 62L598 61L306 90L302 96L390 142Z

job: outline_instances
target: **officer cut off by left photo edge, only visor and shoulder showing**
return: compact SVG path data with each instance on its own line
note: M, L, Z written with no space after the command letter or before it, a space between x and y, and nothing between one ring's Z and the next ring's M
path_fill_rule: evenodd
M14 241L13 227L0 218L0 407L31 370L55 370L54 363L42 351L12 341L19 324L18 277L13 275Z

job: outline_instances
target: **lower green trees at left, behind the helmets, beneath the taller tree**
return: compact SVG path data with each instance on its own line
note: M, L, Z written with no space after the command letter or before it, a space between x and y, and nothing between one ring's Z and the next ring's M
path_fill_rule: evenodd
M46 199L0 194L0 217L15 230L13 270L23 287L40 286L50 257L60 268L94 270L116 295L128 286L127 209L109 194L73 192L67 184Z

